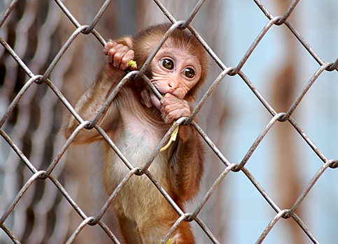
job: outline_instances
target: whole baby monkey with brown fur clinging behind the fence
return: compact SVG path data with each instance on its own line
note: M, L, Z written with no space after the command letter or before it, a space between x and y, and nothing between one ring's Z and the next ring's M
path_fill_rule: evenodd
M137 67L160 42L171 24L150 26L133 37L109 41L104 47L107 62L90 89L76 103L76 112L92 121L115 86L126 75L130 60ZM191 102L206 79L208 56L190 31L176 29L157 52L145 75L164 96L161 100L143 79L130 79L115 96L98 121L127 160L143 167L169 130L171 123L189 117ZM135 68L130 68L134 70ZM64 130L68 138L78 126L73 116ZM104 141L97 130L82 130L74 140L78 144ZM103 182L111 195L129 169L106 142ZM204 165L204 147L192 125L180 125L178 136L167 150L161 151L149 171L176 204L183 204L199 191ZM146 176L132 176L114 199L112 206L128 244L159 244L178 213ZM183 221L171 236L172 244L195 243L188 222Z

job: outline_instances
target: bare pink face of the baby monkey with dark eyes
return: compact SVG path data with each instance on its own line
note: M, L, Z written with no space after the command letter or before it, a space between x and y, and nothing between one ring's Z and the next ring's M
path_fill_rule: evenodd
M170 93L181 100L197 84L202 72L195 56L178 49L160 49L149 68L150 81L157 90L163 95ZM150 100L155 107L160 108L160 100L152 92Z

